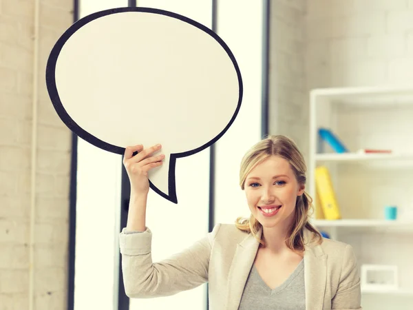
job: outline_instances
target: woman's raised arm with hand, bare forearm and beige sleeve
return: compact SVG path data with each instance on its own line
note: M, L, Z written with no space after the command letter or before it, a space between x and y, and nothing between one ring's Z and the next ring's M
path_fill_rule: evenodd
M219 230L219 226L215 227L205 238L167 260L152 262L152 233L145 226L147 175L150 169L162 165L163 155L152 156L159 150L160 145L148 149L142 145L127 147L123 160L131 183L131 198L127 227L120 234L119 242L123 282L131 298L170 296L207 282L211 247ZM138 154L132 156L134 152Z

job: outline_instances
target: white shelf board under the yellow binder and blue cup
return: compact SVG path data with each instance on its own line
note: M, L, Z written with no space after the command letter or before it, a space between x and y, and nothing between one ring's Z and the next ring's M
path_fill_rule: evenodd
M399 227L413 230L413 220L313 220L316 227Z

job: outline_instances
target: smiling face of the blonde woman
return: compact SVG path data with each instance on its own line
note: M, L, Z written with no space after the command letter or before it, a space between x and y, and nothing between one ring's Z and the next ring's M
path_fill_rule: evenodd
M266 228L282 225L288 229L292 225L297 196L304 194L304 188L290 163L280 156L270 156L257 164L244 183L251 214Z

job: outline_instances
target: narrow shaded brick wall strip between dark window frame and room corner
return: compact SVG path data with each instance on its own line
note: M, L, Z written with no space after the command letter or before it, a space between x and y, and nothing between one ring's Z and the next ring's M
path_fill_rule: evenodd
M305 1L271 1L269 132L285 134L305 151Z

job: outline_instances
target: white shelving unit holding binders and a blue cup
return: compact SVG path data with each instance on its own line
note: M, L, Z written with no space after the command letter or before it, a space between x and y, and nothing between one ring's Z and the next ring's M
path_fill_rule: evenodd
M338 154L322 142L319 127L332 130L349 152ZM392 152L362 154L359 149ZM401 296L412 298L413 304L413 242L405 238L413 238L413 85L313 90L309 151L307 189L316 208L315 168L325 165L342 216L314 216L312 223L330 238L350 243L359 265L399 267L399 289L364 289L363 298L372 298L369 304L378 296L390 298L390 303ZM398 207L397 220L385 220L385 205Z

